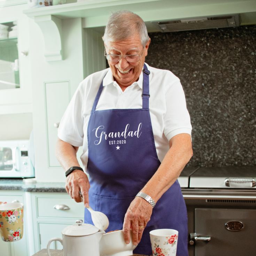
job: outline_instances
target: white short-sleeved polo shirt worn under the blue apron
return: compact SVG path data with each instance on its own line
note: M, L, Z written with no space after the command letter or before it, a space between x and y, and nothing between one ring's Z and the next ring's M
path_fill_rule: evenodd
M150 118L156 152L162 162L169 150L169 140L180 133L191 135L192 126L179 78L169 70L146 65L150 71ZM142 108L142 72L139 80L124 92L114 81L110 68L91 74L79 84L61 119L58 137L73 146L83 146L81 160L85 167L88 159L88 121L102 79L103 90L96 110Z

